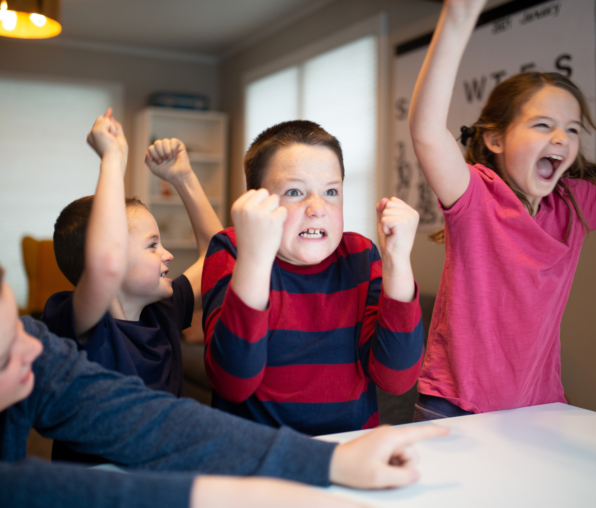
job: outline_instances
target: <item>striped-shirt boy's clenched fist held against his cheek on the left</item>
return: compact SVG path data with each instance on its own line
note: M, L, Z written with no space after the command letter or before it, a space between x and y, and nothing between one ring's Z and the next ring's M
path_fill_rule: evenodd
M232 222L236 228L238 258L268 264L269 270L280 249L287 210L280 197L266 189L246 191L232 205Z

